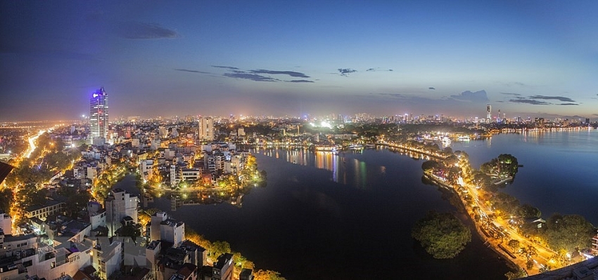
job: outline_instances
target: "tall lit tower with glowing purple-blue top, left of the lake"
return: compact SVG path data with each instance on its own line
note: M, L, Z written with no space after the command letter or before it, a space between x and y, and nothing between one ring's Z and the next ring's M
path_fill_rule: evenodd
M101 87L89 98L89 131L90 140L104 138L108 135L108 93Z

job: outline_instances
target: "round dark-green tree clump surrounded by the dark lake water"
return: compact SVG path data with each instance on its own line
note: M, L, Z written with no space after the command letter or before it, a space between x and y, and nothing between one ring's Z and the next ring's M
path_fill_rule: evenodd
M430 211L412 229L414 239L434 258L454 258L471 241L471 231L450 213Z

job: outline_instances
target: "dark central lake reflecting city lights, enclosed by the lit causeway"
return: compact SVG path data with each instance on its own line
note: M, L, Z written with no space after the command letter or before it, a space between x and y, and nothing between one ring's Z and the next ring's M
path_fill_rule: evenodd
M336 156L276 149L256 157L268 185L252 189L241 208L170 212L166 199L155 206L287 279L504 279L509 271L476 234L452 260L431 258L412 239L427 211L457 210L450 194L421 181L422 160L386 149Z

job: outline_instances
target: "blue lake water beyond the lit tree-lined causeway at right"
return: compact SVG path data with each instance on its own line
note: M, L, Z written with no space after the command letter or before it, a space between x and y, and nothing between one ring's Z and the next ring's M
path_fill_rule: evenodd
M519 168L502 189L521 203L552 213L580 214L598 226L598 130L500 134L488 140L452 143L469 154L473 167L512 154Z

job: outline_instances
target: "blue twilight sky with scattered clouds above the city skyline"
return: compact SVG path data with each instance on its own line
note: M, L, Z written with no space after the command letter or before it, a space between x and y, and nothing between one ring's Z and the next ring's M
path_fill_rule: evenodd
M598 1L0 1L0 122L598 119Z

